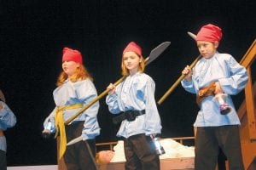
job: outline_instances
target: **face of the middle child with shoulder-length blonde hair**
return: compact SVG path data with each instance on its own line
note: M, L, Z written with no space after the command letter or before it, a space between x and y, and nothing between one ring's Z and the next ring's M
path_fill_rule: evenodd
M123 55L123 62L125 67L132 75L137 72L140 62L142 62L142 59L134 52L126 52Z

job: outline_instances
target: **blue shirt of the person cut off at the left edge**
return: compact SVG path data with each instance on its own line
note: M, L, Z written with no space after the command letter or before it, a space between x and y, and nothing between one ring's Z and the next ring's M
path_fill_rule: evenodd
M0 109L0 129L5 131L7 128L15 126L16 116L3 101L0 101L0 105L3 105L3 109ZM1 136L0 150L6 151L6 148L6 139L4 136Z

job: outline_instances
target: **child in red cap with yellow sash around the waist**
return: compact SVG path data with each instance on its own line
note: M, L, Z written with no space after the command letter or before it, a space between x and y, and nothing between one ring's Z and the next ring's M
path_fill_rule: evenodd
M64 157L68 170L93 170L96 169L94 163L95 138L100 134L100 127L97 122L99 102L91 105L71 124L65 126L64 122L84 105L87 105L90 100L96 98L96 88L83 65L82 54L78 50L63 48L62 69L57 82L58 87L53 92L56 106L44 121L43 133L56 131L55 136L60 134L59 159ZM82 136L83 141L66 148L69 140L79 136Z

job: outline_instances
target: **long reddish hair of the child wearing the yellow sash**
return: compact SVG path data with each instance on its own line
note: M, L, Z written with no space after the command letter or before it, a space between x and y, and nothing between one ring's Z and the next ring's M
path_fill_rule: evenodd
M58 77L58 81L56 85L59 87L67 80L67 74L64 71L61 71L60 76ZM90 76L89 72L85 69L84 65L79 64L79 67L77 70L74 72L74 74L69 77L69 81L71 82L78 82L82 81L86 78L89 78L90 81L93 81L93 78Z

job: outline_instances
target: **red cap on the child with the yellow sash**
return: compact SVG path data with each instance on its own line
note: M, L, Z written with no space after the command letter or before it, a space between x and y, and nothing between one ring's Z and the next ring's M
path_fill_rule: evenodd
M63 48L62 62L64 61L74 61L82 64L82 54L78 50L72 48Z

